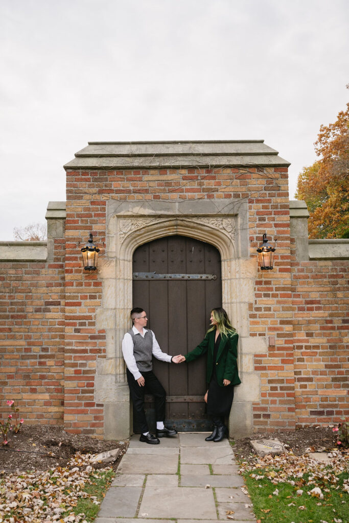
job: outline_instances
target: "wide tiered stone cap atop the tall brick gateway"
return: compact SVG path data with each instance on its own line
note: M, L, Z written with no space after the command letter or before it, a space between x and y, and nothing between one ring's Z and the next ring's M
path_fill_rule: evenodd
M64 165L68 169L181 168L199 166L278 166L287 160L264 140L88 142Z

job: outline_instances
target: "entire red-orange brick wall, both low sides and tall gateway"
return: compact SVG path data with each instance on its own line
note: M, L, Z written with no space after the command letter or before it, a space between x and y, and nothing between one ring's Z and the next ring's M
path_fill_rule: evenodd
M94 401L97 358L106 357L105 331L96 327L102 281L98 271L83 271L81 247L93 231L104 255L109 199L209 198L248 202L251 256L264 232L276 240L275 268L258 270L249 306L250 336L269 340L254 357L261 378L254 429L293 429L347 414L347 261L297 262L287 169L249 170L68 171L65 252L57 239L52 263L0 264L2 410L14 399L26 422L62 424L64 372L66 429L103 437L104 405Z

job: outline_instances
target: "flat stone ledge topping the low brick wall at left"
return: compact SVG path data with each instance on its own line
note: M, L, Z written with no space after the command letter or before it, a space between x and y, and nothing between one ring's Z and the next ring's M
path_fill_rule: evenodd
M47 242L0 242L0 261L46 261Z

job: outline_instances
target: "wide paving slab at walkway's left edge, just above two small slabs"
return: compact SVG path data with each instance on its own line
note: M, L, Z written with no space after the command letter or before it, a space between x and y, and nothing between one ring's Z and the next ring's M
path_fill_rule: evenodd
M118 467L122 474L175 474L178 456L156 456L156 454L128 454L126 452Z

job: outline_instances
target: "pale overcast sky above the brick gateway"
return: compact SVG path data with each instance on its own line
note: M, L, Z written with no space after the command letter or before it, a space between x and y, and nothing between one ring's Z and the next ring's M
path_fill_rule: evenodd
M349 91L347 0L0 0L1 226L45 222L88 141L263 139L291 162Z

